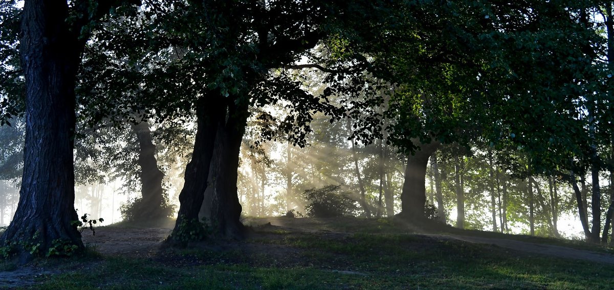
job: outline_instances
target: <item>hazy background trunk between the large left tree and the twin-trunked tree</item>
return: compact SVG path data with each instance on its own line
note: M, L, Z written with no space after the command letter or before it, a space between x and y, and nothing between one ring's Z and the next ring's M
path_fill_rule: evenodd
M149 122L142 120L138 124L133 124L132 129L139 142L137 163L141 166L139 178L141 179L142 203L138 207L139 211L134 213L134 218L139 221L165 218L168 213L163 210L166 202L162 189L164 173L158 168L158 161L155 158L156 147L153 144Z

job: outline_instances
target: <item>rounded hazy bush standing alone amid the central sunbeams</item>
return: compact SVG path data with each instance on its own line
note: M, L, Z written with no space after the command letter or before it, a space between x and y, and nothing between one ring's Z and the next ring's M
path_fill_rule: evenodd
M307 200L305 212L308 216L316 218L354 216L357 210L356 200L349 197L349 193L341 191L340 185L307 189L303 196Z

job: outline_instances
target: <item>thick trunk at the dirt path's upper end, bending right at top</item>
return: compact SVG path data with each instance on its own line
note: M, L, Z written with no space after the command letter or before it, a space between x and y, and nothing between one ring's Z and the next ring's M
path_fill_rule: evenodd
M401 212L403 218L425 219L424 204L426 203L426 170L429 158L437 151L441 143L433 141L421 144L420 149L413 156L407 158L405 167L405 181L401 193Z

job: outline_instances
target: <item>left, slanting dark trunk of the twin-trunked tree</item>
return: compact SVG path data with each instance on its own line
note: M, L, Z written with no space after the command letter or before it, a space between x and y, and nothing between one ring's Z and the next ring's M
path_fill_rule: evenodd
M213 157L217 127L223 117L224 107L214 93L201 96L196 104L196 138L192 160L185 167L184 188L179 194L179 213L174 231L179 230L182 221L198 221L198 213L203 205L204 194L208 187L209 169Z

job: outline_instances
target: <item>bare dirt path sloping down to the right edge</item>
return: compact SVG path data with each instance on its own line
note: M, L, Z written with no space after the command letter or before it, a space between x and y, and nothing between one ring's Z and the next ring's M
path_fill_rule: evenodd
M429 235L428 237L435 237L441 239L453 239L470 243L484 243L489 245L496 245L502 248L508 248L511 250L522 251L532 254L542 254L546 256L554 256L556 258L566 259L578 259L591 262L614 264L614 255L597 253L594 251L577 250L573 248L567 248L565 246L544 245L538 243L527 243L517 240L508 240L504 238L484 238L484 237L470 237L465 235Z

